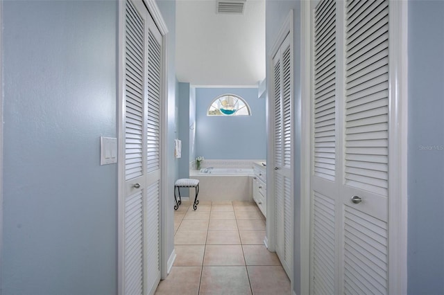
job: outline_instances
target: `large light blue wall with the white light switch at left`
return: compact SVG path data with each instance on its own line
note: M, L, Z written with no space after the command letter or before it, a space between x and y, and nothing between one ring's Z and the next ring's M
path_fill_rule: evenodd
M2 4L2 294L116 294L117 1Z

